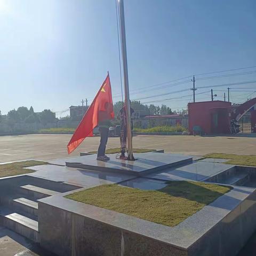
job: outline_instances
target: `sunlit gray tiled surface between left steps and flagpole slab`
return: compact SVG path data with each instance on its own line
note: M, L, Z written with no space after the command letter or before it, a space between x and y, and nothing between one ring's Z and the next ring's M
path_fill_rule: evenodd
M29 173L27 174L28 176L72 183L74 185L87 188L103 184L121 182L135 177L127 174L88 171L58 165L37 165L29 167L29 169L35 170L36 172Z

